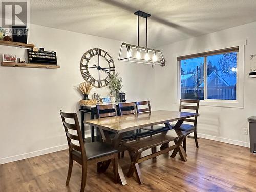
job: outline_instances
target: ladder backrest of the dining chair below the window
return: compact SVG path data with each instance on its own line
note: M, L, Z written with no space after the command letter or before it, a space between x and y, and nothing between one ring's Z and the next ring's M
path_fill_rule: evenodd
M180 111L185 110L194 110L194 113L198 113L200 100L193 99L181 99L180 100ZM194 126L197 126L197 116L194 118L185 119L186 122L194 123Z

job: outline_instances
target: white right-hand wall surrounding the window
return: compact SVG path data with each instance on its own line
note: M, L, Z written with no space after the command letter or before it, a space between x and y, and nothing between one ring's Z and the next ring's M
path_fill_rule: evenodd
M178 110L177 56L204 52L206 48L214 50L216 46L247 39L244 50L244 108L201 105L198 133L200 137L249 147L249 136L243 135L243 129L248 127L247 118L256 115L256 79L248 77L250 55L256 54L255 31L256 22L159 47L165 56L166 66L155 68L156 95L152 99L153 106L157 106L155 109Z

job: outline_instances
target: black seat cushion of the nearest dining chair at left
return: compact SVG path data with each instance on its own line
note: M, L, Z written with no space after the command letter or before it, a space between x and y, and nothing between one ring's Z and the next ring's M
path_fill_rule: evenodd
M111 145L100 142L85 143L87 160L117 153L118 150ZM71 154L81 158L81 152L72 150Z

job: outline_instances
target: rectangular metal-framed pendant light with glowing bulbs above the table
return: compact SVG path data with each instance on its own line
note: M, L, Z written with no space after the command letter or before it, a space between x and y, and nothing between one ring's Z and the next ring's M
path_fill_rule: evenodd
M126 62L136 62L148 65L165 65L163 54L160 50L147 47L147 18L151 15L143 11L134 13L138 17L138 45L122 43L118 60ZM146 19L146 47L139 46L139 17Z

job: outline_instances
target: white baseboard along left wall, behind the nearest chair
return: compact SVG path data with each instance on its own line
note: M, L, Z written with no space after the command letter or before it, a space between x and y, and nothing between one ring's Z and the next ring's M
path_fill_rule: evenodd
M43 150L38 150L38 151L34 151L34 152L5 157L5 158L0 159L0 165L5 164L5 163L10 163L13 161L27 159L30 157L35 157L35 156L45 155L48 153L53 153L53 152L57 152L57 151L61 151L61 150L66 150L67 148L68 148L68 144L65 144L65 145L59 145L59 146L54 146L54 147L50 147L50 148L45 148Z

